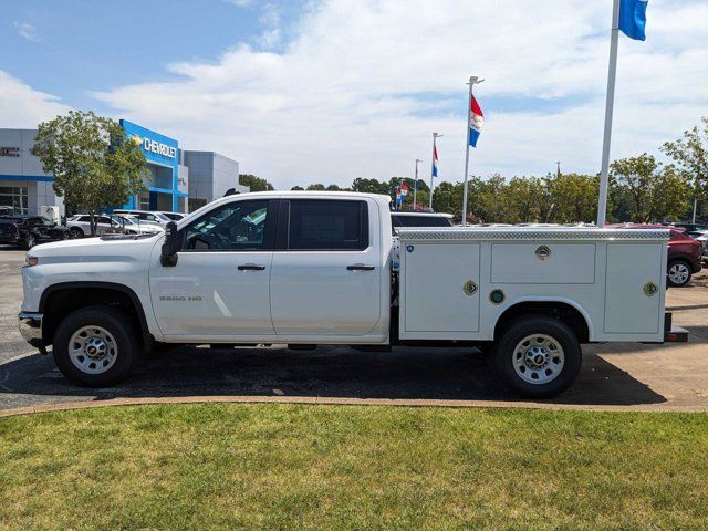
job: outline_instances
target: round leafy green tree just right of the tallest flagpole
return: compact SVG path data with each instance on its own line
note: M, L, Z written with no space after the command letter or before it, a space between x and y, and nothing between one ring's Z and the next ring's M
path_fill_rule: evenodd
M631 221L646 223L678 218L688 208L690 185L685 173L662 166L646 153L612 163L613 194L625 197Z

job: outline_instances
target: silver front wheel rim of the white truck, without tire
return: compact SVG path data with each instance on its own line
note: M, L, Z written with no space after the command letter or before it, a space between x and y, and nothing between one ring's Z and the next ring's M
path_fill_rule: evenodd
M82 373L105 373L115 364L117 355L115 337L102 326L83 326L69 340L69 357Z

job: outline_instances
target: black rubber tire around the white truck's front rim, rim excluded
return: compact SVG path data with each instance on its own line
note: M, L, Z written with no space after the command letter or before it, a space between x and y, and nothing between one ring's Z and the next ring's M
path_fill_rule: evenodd
M115 362L100 374L82 371L70 356L70 341L84 326L100 326L115 340ZM131 372L137 352L138 343L133 323L125 313L112 306L96 305L76 310L59 324L54 333L54 363L64 376L82 387L107 387L122 382Z

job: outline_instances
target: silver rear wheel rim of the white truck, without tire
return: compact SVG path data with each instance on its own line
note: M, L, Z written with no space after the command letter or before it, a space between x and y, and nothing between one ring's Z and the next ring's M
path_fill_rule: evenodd
M541 385L559 377L565 365L561 344L546 334L531 334L513 350L513 369L529 384Z

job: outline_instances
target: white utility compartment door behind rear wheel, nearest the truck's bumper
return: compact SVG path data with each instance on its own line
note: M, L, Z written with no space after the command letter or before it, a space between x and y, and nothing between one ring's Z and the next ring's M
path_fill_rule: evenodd
M655 334L665 289L665 243L607 243L605 332Z

